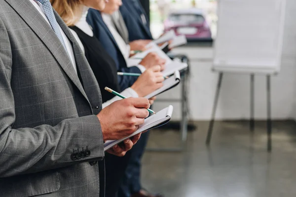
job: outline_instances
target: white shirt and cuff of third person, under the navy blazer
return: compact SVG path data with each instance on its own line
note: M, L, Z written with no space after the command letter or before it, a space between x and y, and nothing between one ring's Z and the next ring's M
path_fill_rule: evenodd
M128 65L130 50L131 50L130 45L126 44L125 41L123 40L123 38L121 37L121 35L117 32L117 30L114 26L114 23L112 22L111 15L103 13L103 12L101 12L101 13L102 13L103 21L105 22L109 31L111 32L112 36L114 37L114 40L116 41L116 43L119 47L119 50L122 53L125 61L127 62L127 65ZM146 70L145 66L143 66L143 65L136 65L136 66L140 69L140 71L142 73L145 72L145 70ZM130 66L128 66L128 67L130 67Z

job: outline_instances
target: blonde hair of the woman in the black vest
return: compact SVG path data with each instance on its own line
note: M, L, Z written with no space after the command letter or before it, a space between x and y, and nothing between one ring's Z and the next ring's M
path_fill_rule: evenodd
M50 2L67 26L74 26L80 19L83 7L81 0L50 0Z

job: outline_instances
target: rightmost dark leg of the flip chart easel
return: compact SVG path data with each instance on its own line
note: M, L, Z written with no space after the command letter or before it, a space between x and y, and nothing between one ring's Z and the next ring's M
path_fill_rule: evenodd
M266 96L267 96L267 151L271 151L271 99L270 99L270 75L266 76Z

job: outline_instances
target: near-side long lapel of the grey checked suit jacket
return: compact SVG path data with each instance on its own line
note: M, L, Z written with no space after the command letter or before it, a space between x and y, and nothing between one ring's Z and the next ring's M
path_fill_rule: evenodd
M80 90L83 96L87 99L83 87L79 81L77 74L75 73L74 67L70 60L70 57L60 42L59 38L56 36L50 25L44 20L40 15L38 10L29 0L5 0L9 3L16 12L23 18L23 20L28 24L28 26L37 34L40 40L52 53L54 58L73 81L75 86ZM24 7L28 7L24 9ZM25 10L31 10L26 12ZM55 12L55 11L54 11ZM56 14L56 13L55 13ZM57 16L57 15L56 15ZM59 18L59 17L56 17ZM59 22L59 21L58 21ZM60 25L61 21L59 22Z

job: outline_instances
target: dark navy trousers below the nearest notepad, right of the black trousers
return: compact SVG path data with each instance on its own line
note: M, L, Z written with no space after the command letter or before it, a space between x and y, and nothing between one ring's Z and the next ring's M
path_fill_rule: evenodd
M120 184L117 197L130 197L141 189L141 160L145 152L149 131L142 133L141 138L132 148L131 156ZM109 197L109 196L106 196Z

